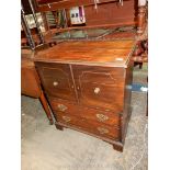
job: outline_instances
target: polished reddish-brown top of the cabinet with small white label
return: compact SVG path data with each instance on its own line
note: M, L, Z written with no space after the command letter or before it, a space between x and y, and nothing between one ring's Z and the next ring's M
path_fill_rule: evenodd
M35 61L126 66L135 41L64 42L35 53Z

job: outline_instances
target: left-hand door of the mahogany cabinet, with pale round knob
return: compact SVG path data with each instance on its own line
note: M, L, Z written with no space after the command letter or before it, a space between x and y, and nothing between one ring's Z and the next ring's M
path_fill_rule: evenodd
M35 63L48 95L76 100L69 65Z

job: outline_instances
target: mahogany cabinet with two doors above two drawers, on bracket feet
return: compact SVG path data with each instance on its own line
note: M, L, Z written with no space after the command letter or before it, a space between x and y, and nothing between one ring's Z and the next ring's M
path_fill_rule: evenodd
M77 129L123 150L134 46L134 41L125 39L65 42L37 52L35 65L57 128Z

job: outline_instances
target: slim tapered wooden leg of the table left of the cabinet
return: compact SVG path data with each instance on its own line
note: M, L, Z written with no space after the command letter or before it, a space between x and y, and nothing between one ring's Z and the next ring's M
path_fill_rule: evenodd
M48 107L47 101L46 101L45 95L44 95L43 92L42 92L42 94L39 97L39 100L41 100L42 105L43 105L43 107L45 110L45 113L46 113L46 115L47 115L47 117L49 120L49 124L53 125L54 122L53 122L53 117L52 117L52 114L50 114L50 110Z

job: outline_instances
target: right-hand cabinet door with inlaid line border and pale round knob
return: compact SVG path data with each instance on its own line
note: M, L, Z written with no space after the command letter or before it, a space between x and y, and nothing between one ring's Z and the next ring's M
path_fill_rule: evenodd
M95 109L122 112L124 105L124 68L72 66L79 101Z

